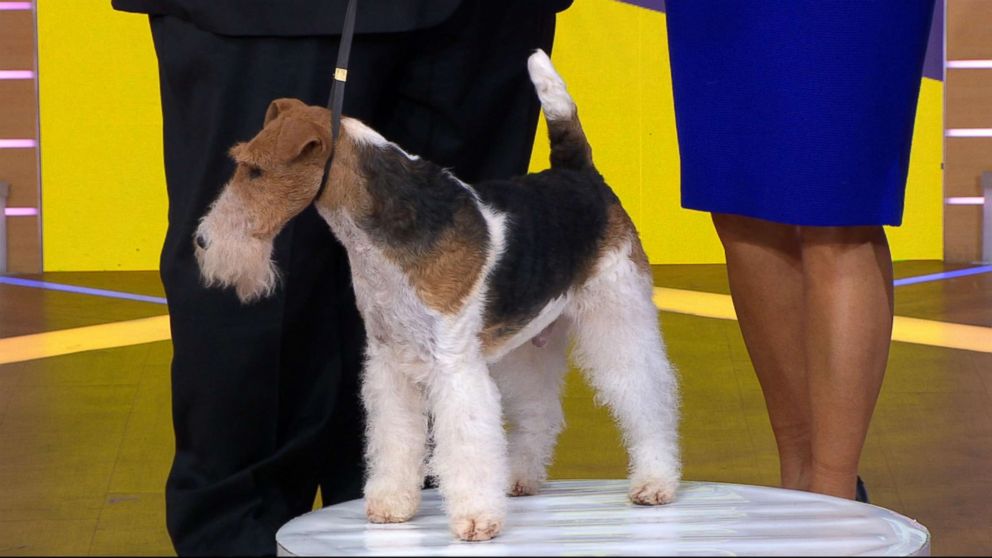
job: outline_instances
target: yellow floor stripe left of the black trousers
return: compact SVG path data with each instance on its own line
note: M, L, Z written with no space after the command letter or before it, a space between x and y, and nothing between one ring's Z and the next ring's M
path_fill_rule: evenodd
M0 364L171 339L169 316L0 339Z

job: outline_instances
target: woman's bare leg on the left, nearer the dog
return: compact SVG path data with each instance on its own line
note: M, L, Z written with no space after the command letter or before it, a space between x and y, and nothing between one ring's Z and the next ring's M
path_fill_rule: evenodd
M727 255L731 297L778 445L782 486L805 490L812 455L798 229L718 213L713 223Z

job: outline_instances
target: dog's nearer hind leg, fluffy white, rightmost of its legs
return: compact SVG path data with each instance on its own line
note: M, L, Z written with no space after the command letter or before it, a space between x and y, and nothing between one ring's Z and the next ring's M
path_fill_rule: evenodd
M681 467L677 380L645 264L635 263L625 243L604 256L566 312L574 319L572 356L620 423L630 498L654 505L674 498Z

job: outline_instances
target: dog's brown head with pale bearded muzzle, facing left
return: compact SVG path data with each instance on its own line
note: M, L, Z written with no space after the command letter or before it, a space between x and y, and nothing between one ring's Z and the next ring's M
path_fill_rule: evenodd
M237 163L195 235L207 285L234 287L243 302L272 293L278 271L272 241L317 195L333 150L330 113L296 99L277 99L262 131L231 149Z

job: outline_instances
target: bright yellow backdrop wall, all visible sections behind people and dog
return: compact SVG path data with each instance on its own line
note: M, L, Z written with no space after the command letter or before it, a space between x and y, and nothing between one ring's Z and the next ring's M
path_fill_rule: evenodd
M679 207L678 144L664 14L577 0L553 59L596 163L641 231L652 263L716 263L706 214ZM155 269L166 226L158 78L146 18L107 0L39 0L44 265ZM942 257L943 85L924 79L896 259ZM532 169L546 166L543 125Z

